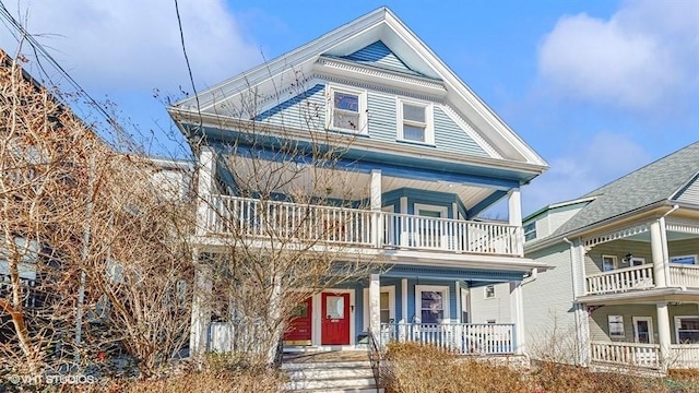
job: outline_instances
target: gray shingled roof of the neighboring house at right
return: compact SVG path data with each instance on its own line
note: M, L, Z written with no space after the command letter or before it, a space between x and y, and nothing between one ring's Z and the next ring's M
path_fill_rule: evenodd
M680 202L682 190L699 175L699 141L632 171L584 195L594 198L585 207L554 231L566 236L594 224L661 202Z

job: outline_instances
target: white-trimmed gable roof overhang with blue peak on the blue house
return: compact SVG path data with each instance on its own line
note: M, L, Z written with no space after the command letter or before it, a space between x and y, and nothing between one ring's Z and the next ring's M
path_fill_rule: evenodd
M294 84L299 75L308 80L316 74L334 75L333 72L340 70L351 72L347 63L384 71L357 73L357 79L387 83L388 78L398 75L391 83L403 83L406 88L450 103L459 111L458 116L467 119L477 139L497 150L489 163L507 163L528 172L524 181L547 168L546 162L387 8L379 8L288 53L176 103L168 111L178 124L198 123L200 114L214 123L214 118L229 114L246 93L254 91L256 97L268 96L268 102L279 104L291 93L279 86ZM269 108L261 108L265 109ZM229 117L240 120L235 115Z

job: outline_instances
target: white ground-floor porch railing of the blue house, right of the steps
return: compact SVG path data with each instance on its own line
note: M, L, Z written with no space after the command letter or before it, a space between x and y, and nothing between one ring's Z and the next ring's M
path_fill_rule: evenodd
M462 355L506 355L514 352L513 324L381 323L380 345L417 342Z

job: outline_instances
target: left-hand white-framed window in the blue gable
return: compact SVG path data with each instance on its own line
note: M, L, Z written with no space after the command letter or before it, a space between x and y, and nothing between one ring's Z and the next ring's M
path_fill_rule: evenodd
M366 93L330 87L328 128L339 131L366 133Z

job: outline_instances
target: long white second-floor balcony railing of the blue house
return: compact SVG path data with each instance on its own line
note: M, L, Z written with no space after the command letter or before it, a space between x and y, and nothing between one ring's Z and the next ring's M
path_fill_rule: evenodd
M522 255L521 228L497 223L420 217L362 209L214 195L208 235L358 247Z

